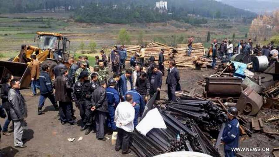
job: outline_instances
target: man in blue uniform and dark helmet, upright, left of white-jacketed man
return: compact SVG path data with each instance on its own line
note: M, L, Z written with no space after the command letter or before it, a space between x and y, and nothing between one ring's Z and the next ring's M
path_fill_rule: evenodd
M114 112L116 109L116 106L119 104L120 97L117 90L114 88L117 82L112 78L108 80L108 88L107 91L107 99L108 99L108 117L107 117L107 123L108 128L110 128L112 131L116 131L116 123L114 123Z

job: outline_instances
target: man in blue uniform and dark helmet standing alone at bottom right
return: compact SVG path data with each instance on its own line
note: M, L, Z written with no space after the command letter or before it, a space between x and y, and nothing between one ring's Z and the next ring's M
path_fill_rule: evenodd
M225 157L235 157L236 152L232 151L232 148L238 147L239 122L236 118L238 114L237 108L230 107L227 114L228 123L224 128L221 141L225 145Z

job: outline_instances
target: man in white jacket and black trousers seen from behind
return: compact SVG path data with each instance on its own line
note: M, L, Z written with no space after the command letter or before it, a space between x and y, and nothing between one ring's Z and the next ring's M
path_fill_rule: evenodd
M127 94L124 102L120 102L115 110L114 122L118 128L117 140L115 150L122 149L122 154L131 152L130 138L131 133L134 131L134 118L135 118L135 103L133 103L133 96ZM134 106L133 106L134 105Z

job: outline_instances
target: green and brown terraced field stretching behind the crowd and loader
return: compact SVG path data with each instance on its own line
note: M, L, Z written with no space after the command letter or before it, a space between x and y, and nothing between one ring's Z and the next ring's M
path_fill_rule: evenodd
M20 51L21 44L34 43L34 35L37 31L58 32L64 34L71 40L71 49L81 51L80 44L85 44L84 51L90 51L89 43L97 43L97 51L102 46L112 47L117 43L118 32L125 28L131 38L132 44L139 44L138 38L140 32L143 34L142 41L149 43L158 41L170 46L178 43L187 43L188 37L194 35L195 42L206 43L207 32L210 31L211 39L217 38L221 41L223 38L233 40L235 43L240 39L246 39L245 34L249 32L249 25L242 25L241 22L232 22L229 20L208 20L209 23L194 27L178 21L169 21L167 23L150 24L88 24L77 23L70 19L71 13L23 13L23 14L1 14L0 15L0 57L2 60L16 56ZM235 38L232 39L232 34Z

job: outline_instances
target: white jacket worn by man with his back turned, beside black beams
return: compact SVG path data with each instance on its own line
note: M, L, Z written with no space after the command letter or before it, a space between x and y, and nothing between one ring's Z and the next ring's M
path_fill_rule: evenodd
M134 131L134 118L135 118L135 109L127 101L120 102L114 113L114 122L118 128L122 128L126 132ZM120 123L122 125L120 125Z

